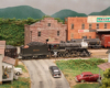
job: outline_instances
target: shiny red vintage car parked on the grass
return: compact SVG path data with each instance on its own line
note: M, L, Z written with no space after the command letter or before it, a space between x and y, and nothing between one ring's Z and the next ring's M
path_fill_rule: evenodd
M101 79L101 76L98 75L98 74L92 74L90 72L85 72L85 73L81 73L81 75L77 75L75 77L75 80L76 81L99 81L99 79Z

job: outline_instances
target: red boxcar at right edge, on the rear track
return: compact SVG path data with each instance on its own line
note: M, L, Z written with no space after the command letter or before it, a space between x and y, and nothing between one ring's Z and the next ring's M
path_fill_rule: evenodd
M103 47L110 47L110 34L102 34L101 35L101 45Z

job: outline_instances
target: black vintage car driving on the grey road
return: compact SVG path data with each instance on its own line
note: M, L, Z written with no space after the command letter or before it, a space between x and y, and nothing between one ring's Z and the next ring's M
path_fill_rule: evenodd
M54 78L62 77L62 73L57 66L50 66L50 72Z

